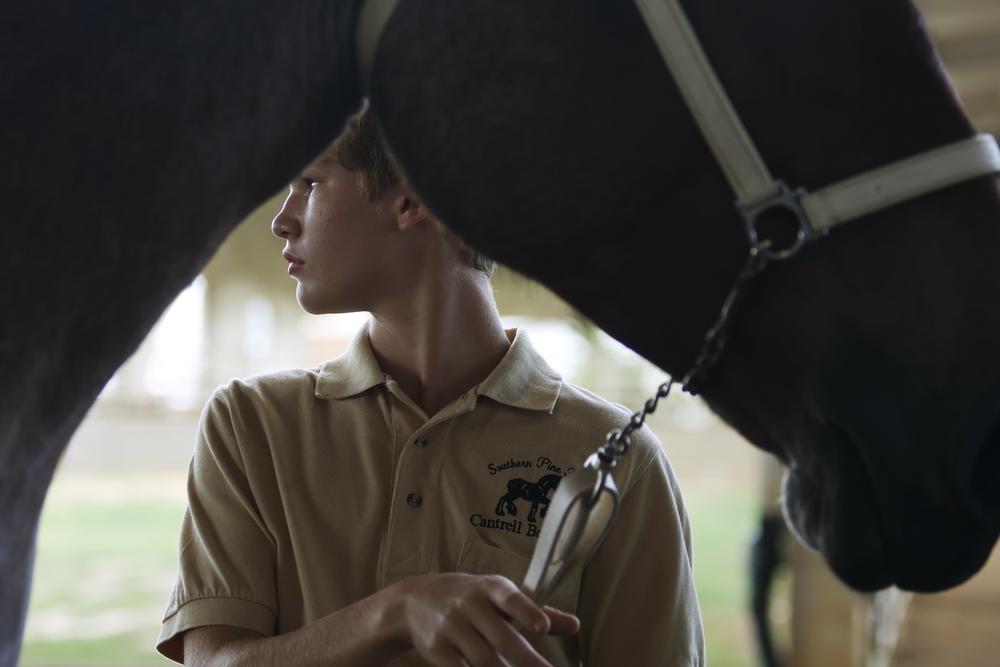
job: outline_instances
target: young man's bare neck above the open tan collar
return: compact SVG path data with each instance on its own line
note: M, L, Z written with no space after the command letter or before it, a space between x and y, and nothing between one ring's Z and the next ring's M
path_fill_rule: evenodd
M373 311L372 351L428 416L478 385L510 341L488 280L429 281L408 298Z

